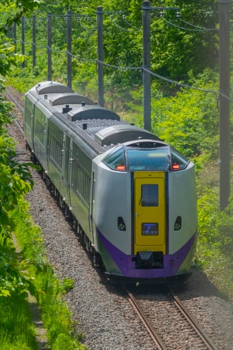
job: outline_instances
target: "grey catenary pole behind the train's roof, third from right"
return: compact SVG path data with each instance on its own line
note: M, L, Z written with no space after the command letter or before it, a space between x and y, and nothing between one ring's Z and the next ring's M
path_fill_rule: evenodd
M98 103L101 107L104 107L103 98L103 8L99 6L97 8L97 56L98 56Z

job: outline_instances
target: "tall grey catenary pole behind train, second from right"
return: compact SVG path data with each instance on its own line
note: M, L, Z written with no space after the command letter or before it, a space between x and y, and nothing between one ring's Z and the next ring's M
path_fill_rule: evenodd
M143 67L151 70L150 10L149 1L143 1ZM151 75L143 71L144 127L151 131Z

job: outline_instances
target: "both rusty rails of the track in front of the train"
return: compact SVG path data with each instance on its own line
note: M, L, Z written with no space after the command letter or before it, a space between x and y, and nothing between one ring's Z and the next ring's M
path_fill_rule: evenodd
M134 297L133 293L130 290L128 290L126 287L125 289L127 291L127 295L130 298L130 303L132 303L134 310L138 314L140 320L144 323L145 327L147 328L147 331L151 335L152 340L154 340L154 342L156 343L158 349L169 350L169 347L167 347L164 344L164 341L162 340L162 338L160 338L160 335L154 328L154 325L151 323L146 312L144 312L143 308L140 306L140 301L137 300L136 297ZM204 329L201 328L199 323L197 323L195 318L193 318L191 313L188 311L188 309L185 307L185 305L182 303L179 297L177 297L175 292L173 292L173 290L169 286L167 286L167 294L169 295L169 299L171 299L171 301L173 302L173 305L175 305L175 307L180 311L180 314L182 314L182 316L186 318L186 321L188 321L188 324L192 325L195 333L198 334L199 338L201 339L201 342L203 342L204 345L206 346L206 349L218 350L217 347L212 342L212 340L206 334L206 332L204 332ZM156 317L156 314L154 314L152 317L153 318Z

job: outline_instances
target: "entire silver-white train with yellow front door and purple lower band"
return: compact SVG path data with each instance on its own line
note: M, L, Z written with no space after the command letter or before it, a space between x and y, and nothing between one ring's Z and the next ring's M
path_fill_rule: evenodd
M197 238L192 162L56 82L25 94L24 129L44 176L108 275L188 273Z

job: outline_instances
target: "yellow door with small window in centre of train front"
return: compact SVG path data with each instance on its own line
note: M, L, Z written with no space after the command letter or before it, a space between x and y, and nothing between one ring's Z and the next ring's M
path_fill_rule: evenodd
M134 173L134 253L166 249L164 172Z

